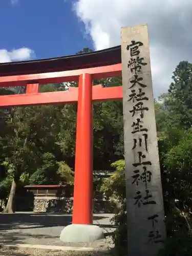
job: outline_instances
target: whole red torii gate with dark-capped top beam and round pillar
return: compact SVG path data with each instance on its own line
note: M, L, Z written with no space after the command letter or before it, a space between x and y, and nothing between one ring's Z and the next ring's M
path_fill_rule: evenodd
M63 69L66 71L60 71ZM0 65L0 87L27 87L26 94L0 96L1 108L78 102L72 221L75 225L93 223L92 102L122 99L122 87L102 88L101 84L93 86L93 80L116 76L121 76L120 46L69 57ZM78 81L78 88L64 92L38 92L39 84L70 81ZM62 236L62 241L81 241L73 232L70 237L69 229L66 232L68 237ZM78 233L77 236L82 234Z

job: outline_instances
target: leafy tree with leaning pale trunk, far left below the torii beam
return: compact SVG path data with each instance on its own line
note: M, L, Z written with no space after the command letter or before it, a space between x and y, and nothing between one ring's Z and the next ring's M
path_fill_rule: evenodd
M25 121L24 121L25 120ZM30 125L29 113L25 108L11 108L6 119L6 134L3 140L3 165L7 167L7 174L12 177L12 185L6 212L13 211L13 199L20 175L35 165L34 143L29 141Z

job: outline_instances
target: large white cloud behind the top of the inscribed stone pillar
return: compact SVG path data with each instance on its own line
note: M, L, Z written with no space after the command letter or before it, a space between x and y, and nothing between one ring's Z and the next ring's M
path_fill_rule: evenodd
M96 50L120 45L121 27L148 24L155 96L179 61L192 61L191 0L78 0L74 9Z

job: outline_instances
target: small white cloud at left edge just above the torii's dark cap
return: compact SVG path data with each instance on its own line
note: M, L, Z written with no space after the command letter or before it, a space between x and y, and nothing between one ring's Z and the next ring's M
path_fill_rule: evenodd
M23 47L7 51L6 49L0 49L0 62L22 61L28 60L34 56L34 51Z

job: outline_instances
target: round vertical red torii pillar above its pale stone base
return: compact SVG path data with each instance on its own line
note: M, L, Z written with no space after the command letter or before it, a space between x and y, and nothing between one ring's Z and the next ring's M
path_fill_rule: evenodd
M73 224L93 223L92 76L79 77Z

